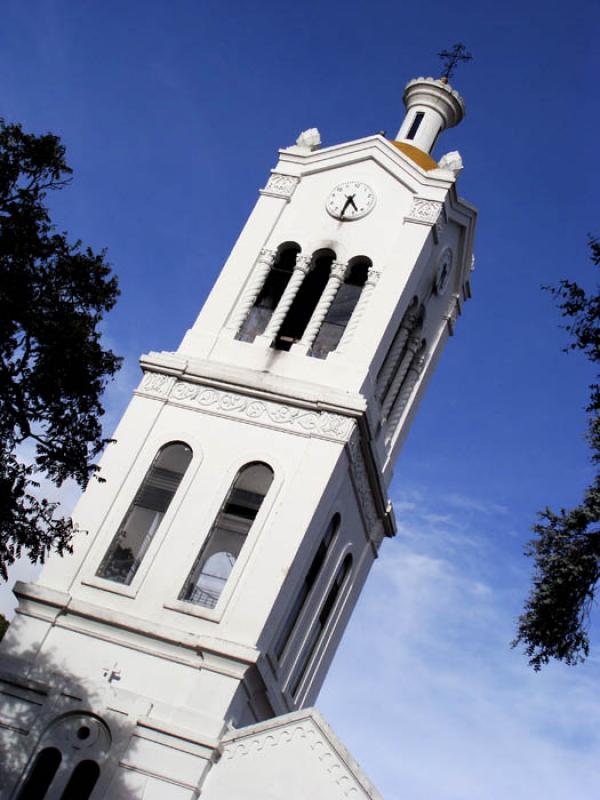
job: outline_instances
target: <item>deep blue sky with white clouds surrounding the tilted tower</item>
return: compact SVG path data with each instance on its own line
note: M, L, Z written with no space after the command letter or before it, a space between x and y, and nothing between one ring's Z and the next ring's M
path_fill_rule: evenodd
M459 191L480 211L474 299L396 468L399 535L319 706L387 798L590 793L597 648L534 675L509 641L536 511L577 502L591 475L591 372L561 352L540 286L591 282L598 3L2 5L0 114L62 137L75 178L59 227L106 247L120 277L109 432L138 355L175 349L192 323L277 148L312 126L324 144L391 136L405 83L455 41L473 52L453 80L466 119L435 154L460 150Z

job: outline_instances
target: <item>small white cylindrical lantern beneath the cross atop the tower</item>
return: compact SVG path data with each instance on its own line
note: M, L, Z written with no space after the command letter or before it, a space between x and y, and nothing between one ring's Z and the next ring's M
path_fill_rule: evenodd
M416 78L404 89L406 116L396 136L431 153L439 134L465 116L465 102L444 78Z

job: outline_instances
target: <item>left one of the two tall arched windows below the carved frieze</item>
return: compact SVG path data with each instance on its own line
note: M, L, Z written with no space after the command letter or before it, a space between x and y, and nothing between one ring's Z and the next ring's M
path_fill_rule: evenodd
M183 442L162 447L146 473L96 573L130 584L192 459Z

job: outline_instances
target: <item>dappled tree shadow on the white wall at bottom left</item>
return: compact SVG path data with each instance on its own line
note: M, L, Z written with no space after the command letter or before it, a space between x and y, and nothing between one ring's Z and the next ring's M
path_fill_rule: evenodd
M0 673L0 800L86 800L93 791L141 800L145 777L120 762L144 710L112 710L108 680L82 682L48 656L26 654L9 669Z

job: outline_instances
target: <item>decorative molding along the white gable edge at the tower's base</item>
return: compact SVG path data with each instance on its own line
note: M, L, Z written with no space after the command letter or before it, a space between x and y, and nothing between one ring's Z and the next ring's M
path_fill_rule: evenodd
M314 723L308 721L292 723L289 727L278 730L265 731L254 736L250 741L226 744L223 757L228 761L232 761L236 758L244 758L252 752L260 752L266 748L278 747L281 744L291 744L294 740L300 739L304 739L310 749L313 750L345 797L358 798L367 794L346 762L331 746L331 743L327 741L322 731Z

